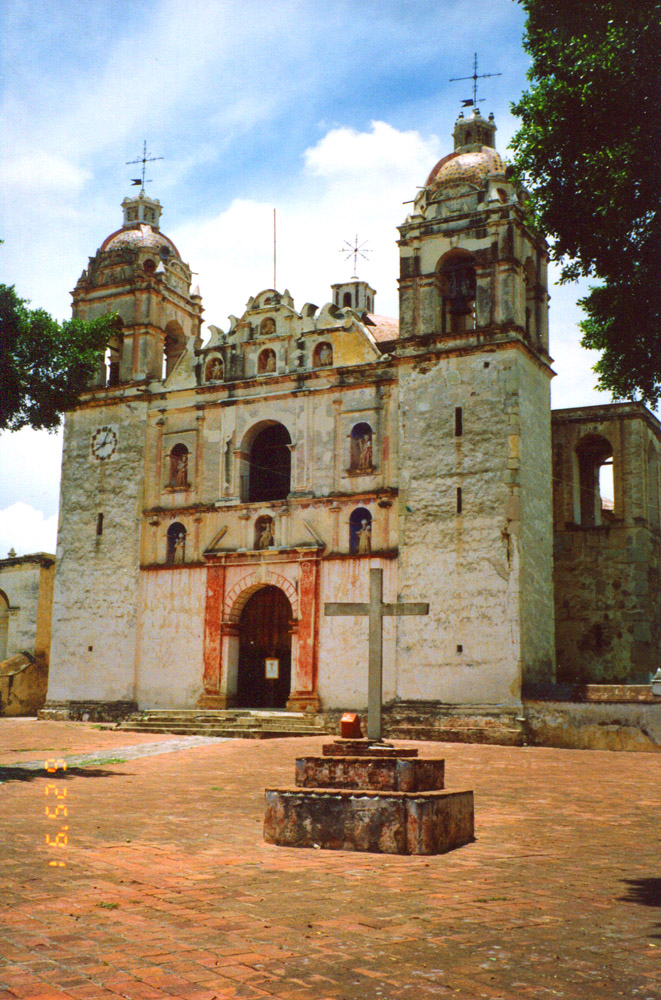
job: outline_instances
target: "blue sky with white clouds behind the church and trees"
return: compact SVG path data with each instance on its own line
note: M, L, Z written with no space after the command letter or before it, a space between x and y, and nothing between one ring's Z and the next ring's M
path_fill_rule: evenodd
M351 274L396 315L396 226L441 155L471 83L506 152L526 86L514 0L4 0L0 6L0 280L59 318L88 256L147 176L163 230L196 272L205 319L224 329L278 285L321 305ZM135 189L133 189L135 190ZM555 406L597 402L578 346L580 290L552 289ZM0 435L0 557L53 550L60 438Z

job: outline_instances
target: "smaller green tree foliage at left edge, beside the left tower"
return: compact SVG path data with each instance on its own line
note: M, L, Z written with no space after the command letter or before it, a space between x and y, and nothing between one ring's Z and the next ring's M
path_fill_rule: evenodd
M0 430L57 427L97 371L115 316L58 323L0 285Z

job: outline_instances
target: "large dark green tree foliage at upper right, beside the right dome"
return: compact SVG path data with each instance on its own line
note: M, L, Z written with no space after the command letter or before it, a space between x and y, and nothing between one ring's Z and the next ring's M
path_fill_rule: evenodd
M661 2L519 0L531 87L512 140L531 211L580 300L599 388L661 395Z

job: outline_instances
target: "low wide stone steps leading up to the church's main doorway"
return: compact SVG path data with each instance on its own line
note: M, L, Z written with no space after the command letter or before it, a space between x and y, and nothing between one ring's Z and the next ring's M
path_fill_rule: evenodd
M268 740L290 736L322 736L323 720L299 712L249 709L153 709L125 719L118 727L130 732L173 733L178 736L216 736L225 739Z

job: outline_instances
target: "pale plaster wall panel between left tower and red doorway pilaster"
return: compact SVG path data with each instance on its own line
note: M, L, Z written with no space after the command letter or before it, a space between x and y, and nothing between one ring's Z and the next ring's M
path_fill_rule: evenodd
M197 704L204 672L206 569L140 574L136 700L140 708Z

